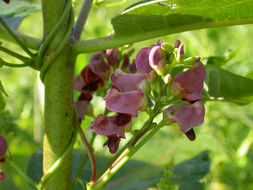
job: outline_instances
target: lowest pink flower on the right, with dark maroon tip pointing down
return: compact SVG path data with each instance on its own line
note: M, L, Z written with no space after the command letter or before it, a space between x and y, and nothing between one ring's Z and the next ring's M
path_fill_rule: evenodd
M197 101L188 106L171 106L167 108L163 114L164 116L172 115L169 124L177 122L180 131L185 133L190 140L194 140L195 134L193 127L201 125L204 122L205 107L202 102Z

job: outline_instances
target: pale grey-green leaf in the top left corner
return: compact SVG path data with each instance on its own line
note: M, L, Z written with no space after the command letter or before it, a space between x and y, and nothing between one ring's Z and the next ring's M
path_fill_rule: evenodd
M40 11L41 5L29 3L27 1L11 0L9 4L0 1L0 16L8 26L16 30L22 20L30 13ZM2 27L0 25L0 27Z

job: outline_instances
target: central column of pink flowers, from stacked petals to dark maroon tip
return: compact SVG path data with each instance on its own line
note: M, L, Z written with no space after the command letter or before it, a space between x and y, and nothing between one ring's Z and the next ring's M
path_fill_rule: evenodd
M112 87L105 97L106 108L116 112L114 116L99 115L89 129L101 136L108 137L104 144L112 154L116 153L124 130L130 125L132 117L138 116L138 110L146 107L144 94L146 80L140 74L128 74L116 69L110 75Z

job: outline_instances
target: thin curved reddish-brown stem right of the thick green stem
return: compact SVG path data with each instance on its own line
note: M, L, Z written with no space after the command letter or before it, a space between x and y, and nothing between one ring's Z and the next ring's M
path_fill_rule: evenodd
M78 131L79 131L79 134L80 134L80 137L83 141L83 144L84 146L86 147L87 149L87 153L88 153L88 156L89 156L89 159L90 159L90 164L91 164L91 168L92 168L92 175L91 175L91 180L90 180L90 184L94 184L95 181L96 181L96 171L97 171L97 168L96 168L96 161L95 161L95 157L93 155L93 152L92 152L92 149L84 135L84 132L80 126L80 122L77 121L77 128L78 128Z

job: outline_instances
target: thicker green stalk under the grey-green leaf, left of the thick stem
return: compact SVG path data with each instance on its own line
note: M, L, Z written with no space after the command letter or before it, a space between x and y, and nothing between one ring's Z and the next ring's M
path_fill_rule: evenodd
M24 42L25 46L27 46L28 48L33 49L33 50L38 50L40 48L41 40L37 38L33 38L31 36L20 34L18 32L14 32L14 34L22 42ZM16 40L13 39L13 37L9 34L9 32L2 29L1 27L0 27L0 39L3 39L8 42L16 43Z

